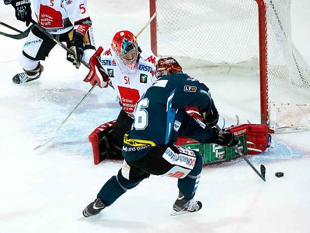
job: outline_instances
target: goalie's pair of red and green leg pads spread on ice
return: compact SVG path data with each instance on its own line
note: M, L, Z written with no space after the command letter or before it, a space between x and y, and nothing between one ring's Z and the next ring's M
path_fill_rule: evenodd
M90 135L92 144L94 164L98 165L106 156L108 146L107 135L112 131L116 120L109 121L98 126ZM241 124L226 129L231 130L236 140L239 141L238 148L245 155L254 155L265 151L271 143L271 135L265 124ZM240 157L233 147L222 147L216 144L201 144L193 139L179 137L176 145L198 151L204 158L204 164L223 162ZM123 159L123 158L119 158Z

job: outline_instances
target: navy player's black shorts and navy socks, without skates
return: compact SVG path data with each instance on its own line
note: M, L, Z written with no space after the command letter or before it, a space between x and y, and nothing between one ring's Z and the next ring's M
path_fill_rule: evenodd
M178 158L195 160L192 167L186 166L186 159L169 159L167 151ZM174 161L174 162L173 162ZM182 161L184 163L182 163ZM189 163L190 164L190 163ZM203 159L196 152L180 148L173 144L155 146L143 158L128 162L124 160L123 167L117 175L112 176L102 187L97 197L105 206L111 205L128 189L136 187L143 179L152 175L162 175L178 178L178 188L185 198L192 199L199 184Z

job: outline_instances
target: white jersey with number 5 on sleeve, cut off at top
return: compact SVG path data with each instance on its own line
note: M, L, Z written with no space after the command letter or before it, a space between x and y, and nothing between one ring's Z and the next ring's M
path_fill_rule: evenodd
M32 0L32 5L40 25L52 34L68 32L78 24L91 25L86 0Z

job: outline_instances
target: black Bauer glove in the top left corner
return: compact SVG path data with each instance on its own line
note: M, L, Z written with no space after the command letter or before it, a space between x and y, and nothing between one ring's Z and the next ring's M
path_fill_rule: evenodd
M11 0L11 4L15 8L16 19L26 22L28 27L31 21L30 0Z

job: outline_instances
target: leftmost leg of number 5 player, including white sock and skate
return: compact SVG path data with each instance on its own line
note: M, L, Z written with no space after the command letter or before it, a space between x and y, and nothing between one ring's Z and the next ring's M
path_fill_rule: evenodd
M43 71L40 60L45 60L54 46L55 42L36 27L32 27L19 58L24 72L16 74L12 79L13 82L23 84L38 79Z

